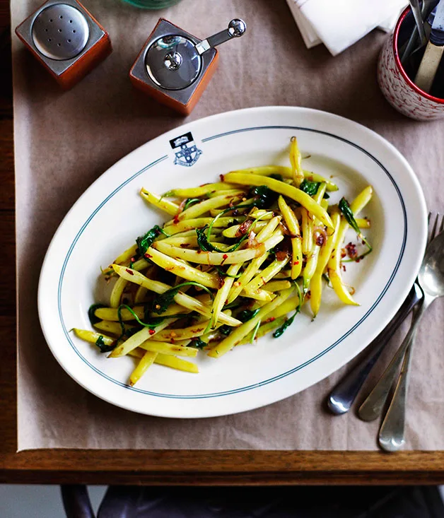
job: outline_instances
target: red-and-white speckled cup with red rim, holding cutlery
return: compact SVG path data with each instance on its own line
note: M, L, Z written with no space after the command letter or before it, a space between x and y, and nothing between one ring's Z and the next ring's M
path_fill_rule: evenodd
M388 102L411 119L428 121L444 117L444 99L418 88L407 76L399 59L398 44L407 40L413 27L410 8L397 21L395 33L382 47L378 61L378 83ZM400 42L400 43L399 43Z

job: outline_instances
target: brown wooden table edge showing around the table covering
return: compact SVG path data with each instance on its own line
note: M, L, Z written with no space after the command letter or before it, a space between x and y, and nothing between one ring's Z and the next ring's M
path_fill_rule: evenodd
M37 449L16 453L16 279L8 2L0 4L0 482L170 485L444 483L444 452Z

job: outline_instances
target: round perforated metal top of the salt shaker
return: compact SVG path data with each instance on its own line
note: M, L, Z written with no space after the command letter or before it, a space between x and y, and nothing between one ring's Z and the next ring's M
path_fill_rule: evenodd
M37 50L49 59L62 61L80 54L89 37L83 13L68 4L54 4L36 16L32 26Z

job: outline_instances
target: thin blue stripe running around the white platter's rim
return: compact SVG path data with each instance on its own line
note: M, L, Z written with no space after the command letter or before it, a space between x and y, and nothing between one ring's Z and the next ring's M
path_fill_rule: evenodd
M112 382L113 384L117 384L119 387L124 387L124 388L132 390L134 392L139 392L139 394L146 394L148 396L156 396L156 397L162 397L162 398L168 398L168 399L207 399L207 398L211 398L211 397L219 397L219 396L228 396L230 394L238 394L239 392L245 392L247 390L257 389L259 387L264 387L267 384L276 382L279 379L282 379L282 378L284 378L284 377L286 377L288 375L293 374L294 372L297 372L298 370L303 369L304 367L307 367L311 363L315 362L318 358L321 358L323 355L327 354L329 351L331 351L333 348L335 348L339 343L341 343L341 341L346 339L346 337L349 336L349 334L351 334L359 325L361 325L362 322L364 322L364 320L367 319L368 315L371 312L373 312L375 307L379 304L380 300L382 299L382 297L387 292L388 288L390 287L390 285L391 285L391 283L393 281L393 278L395 278L395 275L396 275L396 273L397 273L397 271L399 269L399 264L401 264L402 257L404 256L404 249L405 249L406 241L407 241L407 212L406 212L406 208L405 208L405 204L404 204L404 199L402 198L401 191L399 190L399 187L397 186L397 183L395 182L395 179L392 177L392 175L390 175L390 172L388 172L388 170L382 165L382 163L380 163L380 161L377 158L375 158L373 155L368 153L368 151L366 151L365 149L361 148L361 146L358 146L358 144L353 143L353 142L351 142L351 141L349 141L347 139L344 139L344 137L337 136L337 135L334 135L332 133L329 133L327 131L321 131L321 130L312 129L312 128L304 128L302 126L254 126L254 127L250 127L250 128L235 129L235 130L232 130L232 131L226 131L225 133L216 134L216 135L213 135L213 136L206 137L205 139L201 139L201 142L204 143L204 142L208 142L208 141L211 141L211 140L214 140L214 139L219 139L219 138L221 138L223 136L233 135L233 134L237 134L237 133L243 133L245 131L258 131L258 130L261 130L261 129L291 129L291 130L296 130L296 131L310 131L312 133L317 133L317 134L322 134L322 135L330 136L333 139L337 139L339 141L347 143L350 146L353 146L354 148L357 148L359 151L362 151L369 158L371 158L371 160L373 160L376 164L378 164L379 167L385 172L387 177L389 177L390 181L393 184L393 187L395 187L395 190L396 190L396 192L397 192L397 194L399 196L399 201L400 201L401 206L402 206L402 216L404 218L404 232L403 232L403 236L402 236L402 246L401 246L401 250L399 252L399 257L397 259L397 263L395 264L395 269L393 269L392 275L390 276L389 280L387 281L387 284L383 288L382 292L380 293L378 298L375 300L373 305L370 307L368 312L366 312L366 314L358 322L356 322L356 324L353 327L351 327L351 329L349 329L349 331L347 331L343 336L341 336L341 338L339 338L337 341L332 343L332 345L327 347L324 351L321 351L319 354L315 355L313 358L310 358L310 360L307 360L306 362L301 363L300 365L297 365L296 367L293 367L293 369L291 369L291 370L288 370L286 372L282 372L280 375L276 375L276 376L271 377L269 379L264 379L262 382L257 382L255 384L247 385L246 387L239 387L238 389L231 389L231 390L226 390L226 391L223 391L223 392L212 392L212 393L209 393L209 394L162 394L162 393L159 393L159 392L151 392L151 391L148 391L148 390L138 389L136 387L130 387L128 384L123 383L123 382L119 382L117 379L114 379L114 378L106 375L104 372L101 372L100 370L98 370L97 367L95 367L95 365L93 365L86 358L84 358L84 356L80 353L80 351L78 351L78 349L74 345L74 342L71 340L71 336L69 336L68 330L66 329L66 326L64 324L64 319L63 319L63 314L62 314L62 302L61 301L62 301L62 284L63 284L64 273L66 271L66 265L68 264L69 258L71 257L71 254L72 254L72 252L74 250L74 247L75 247L76 243L78 242L78 239L81 237L81 234L86 229L86 227L88 226L90 221L94 218L94 216L98 213L98 211L100 211L100 209L107 203L107 201L110 201L110 199L113 196L115 196L115 194L117 194L117 192L119 192L125 185L127 185L129 182L131 182L133 179L135 179L136 177L141 175L146 170L150 169L154 165L157 165L158 163L160 163L163 160L165 160L166 158L168 158L168 155L164 155L163 157L158 158L158 160L155 160L154 162L151 162L149 165L146 165L146 167L143 167L141 170L139 170L134 175L132 175L132 177L129 177L127 180L125 180L125 182L120 184L119 187L117 187L109 196L107 196L107 198L105 198L105 200L103 200L103 202L97 208L95 208L95 211L93 211L93 213L89 216L89 218L86 220L86 222L83 223L83 225L81 226L81 229L78 231L76 237L74 238L74 241L72 242L71 247L69 247L69 250L66 253L66 257L64 259L64 263L63 263L63 266L62 266L62 272L61 272L60 278L59 278L58 295L57 295L57 304L58 304L58 308L59 308L60 323L62 324L62 329L64 331L64 335L66 336L67 341L69 342L71 347L74 349L74 351L76 352L78 357L81 358L81 360L83 360L83 362L86 363L86 365L88 365L88 367L90 367L95 372L97 372L98 375L104 377L105 379L107 379L108 381Z

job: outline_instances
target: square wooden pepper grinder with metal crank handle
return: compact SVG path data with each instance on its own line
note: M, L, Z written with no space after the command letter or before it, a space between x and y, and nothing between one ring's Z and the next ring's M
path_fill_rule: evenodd
M206 40L160 18L129 71L133 85L181 114L189 114L216 70L216 45L240 37L247 26L231 20Z

